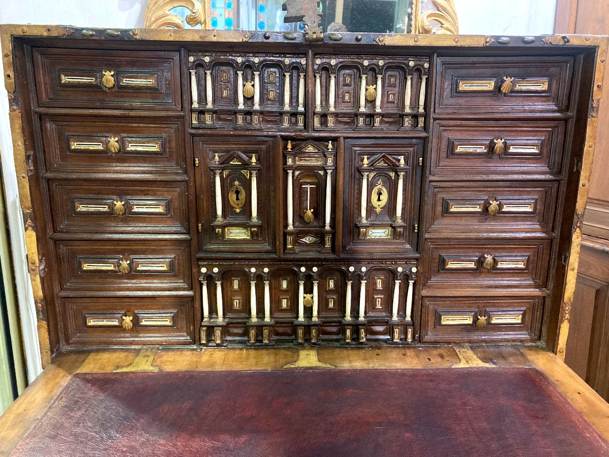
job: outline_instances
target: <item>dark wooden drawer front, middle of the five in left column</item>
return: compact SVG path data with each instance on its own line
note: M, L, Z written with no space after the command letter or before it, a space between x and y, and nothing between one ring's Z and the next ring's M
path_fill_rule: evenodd
M188 233L186 183L49 182L57 233Z

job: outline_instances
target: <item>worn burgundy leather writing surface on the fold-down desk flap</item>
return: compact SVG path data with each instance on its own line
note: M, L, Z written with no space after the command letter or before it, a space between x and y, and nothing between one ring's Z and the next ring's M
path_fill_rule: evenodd
M534 369L76 374L15 456L602 456Z

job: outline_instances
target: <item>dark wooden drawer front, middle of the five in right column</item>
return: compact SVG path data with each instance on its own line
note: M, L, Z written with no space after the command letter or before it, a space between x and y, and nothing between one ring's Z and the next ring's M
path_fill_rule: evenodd
M428 232L552 232L558 182L435 182Z

